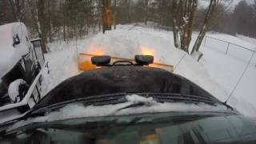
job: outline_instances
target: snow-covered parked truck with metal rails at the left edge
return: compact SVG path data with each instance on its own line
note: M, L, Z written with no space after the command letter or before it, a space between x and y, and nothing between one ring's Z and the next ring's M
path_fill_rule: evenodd
M0 26L0 117L40 100L44 65L41 40L30 41L22 22Z

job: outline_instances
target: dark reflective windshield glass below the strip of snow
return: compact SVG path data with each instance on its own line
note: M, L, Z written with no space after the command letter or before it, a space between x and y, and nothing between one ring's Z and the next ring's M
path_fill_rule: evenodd
M256 132L255 127L251 127L254 123L246 121L241 116L210 113L76 118L24 126L0 140L20 144L256 142L255 135L251 135Z

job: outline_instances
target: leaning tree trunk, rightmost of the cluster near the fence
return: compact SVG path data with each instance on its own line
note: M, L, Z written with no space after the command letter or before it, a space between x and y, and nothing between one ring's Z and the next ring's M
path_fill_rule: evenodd
M193 54L195 51L198 51L201 44L202 44L202 40L206 35L206 31L207 31L208 26L209 26L210 18L212 16L213 12L214 12L215 6L216 6L216 0L210 0L210 6L208 8L206 18L205 18L205 20L202 24L202 28L200 30L200 33L198 34L198 38L197 38L196 42L194 43L191 54Z

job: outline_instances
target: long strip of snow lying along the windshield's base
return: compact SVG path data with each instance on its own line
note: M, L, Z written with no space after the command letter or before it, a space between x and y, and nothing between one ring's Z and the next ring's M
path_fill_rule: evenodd
M58 120L65 120L70 118L91 118L91 117L105 117L115 115L128 114L151 114L161 112L227 112L226 106L210 106L204 103L188 104L179 102L159 103L153 98L144 98L142 96L133 94L126 96L127 102L115 105L104 106L83 106L82 103L68 104L62 109L50 112L43 117L29 118L26 121L17 122L10 128L14 130L20 126L26 126L33 122L53 122ZM146 106L128 107L133 104L143 102Z

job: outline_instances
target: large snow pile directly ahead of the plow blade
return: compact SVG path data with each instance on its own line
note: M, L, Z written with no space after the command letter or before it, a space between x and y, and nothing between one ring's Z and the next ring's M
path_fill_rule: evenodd
M158 32L141 26L121 26L118 30L96 34L89 40L88 47L80 52L109 54L121 58L134 58L135 54L154 54L154 62L178 63L183 51L173 49L172 34Z

